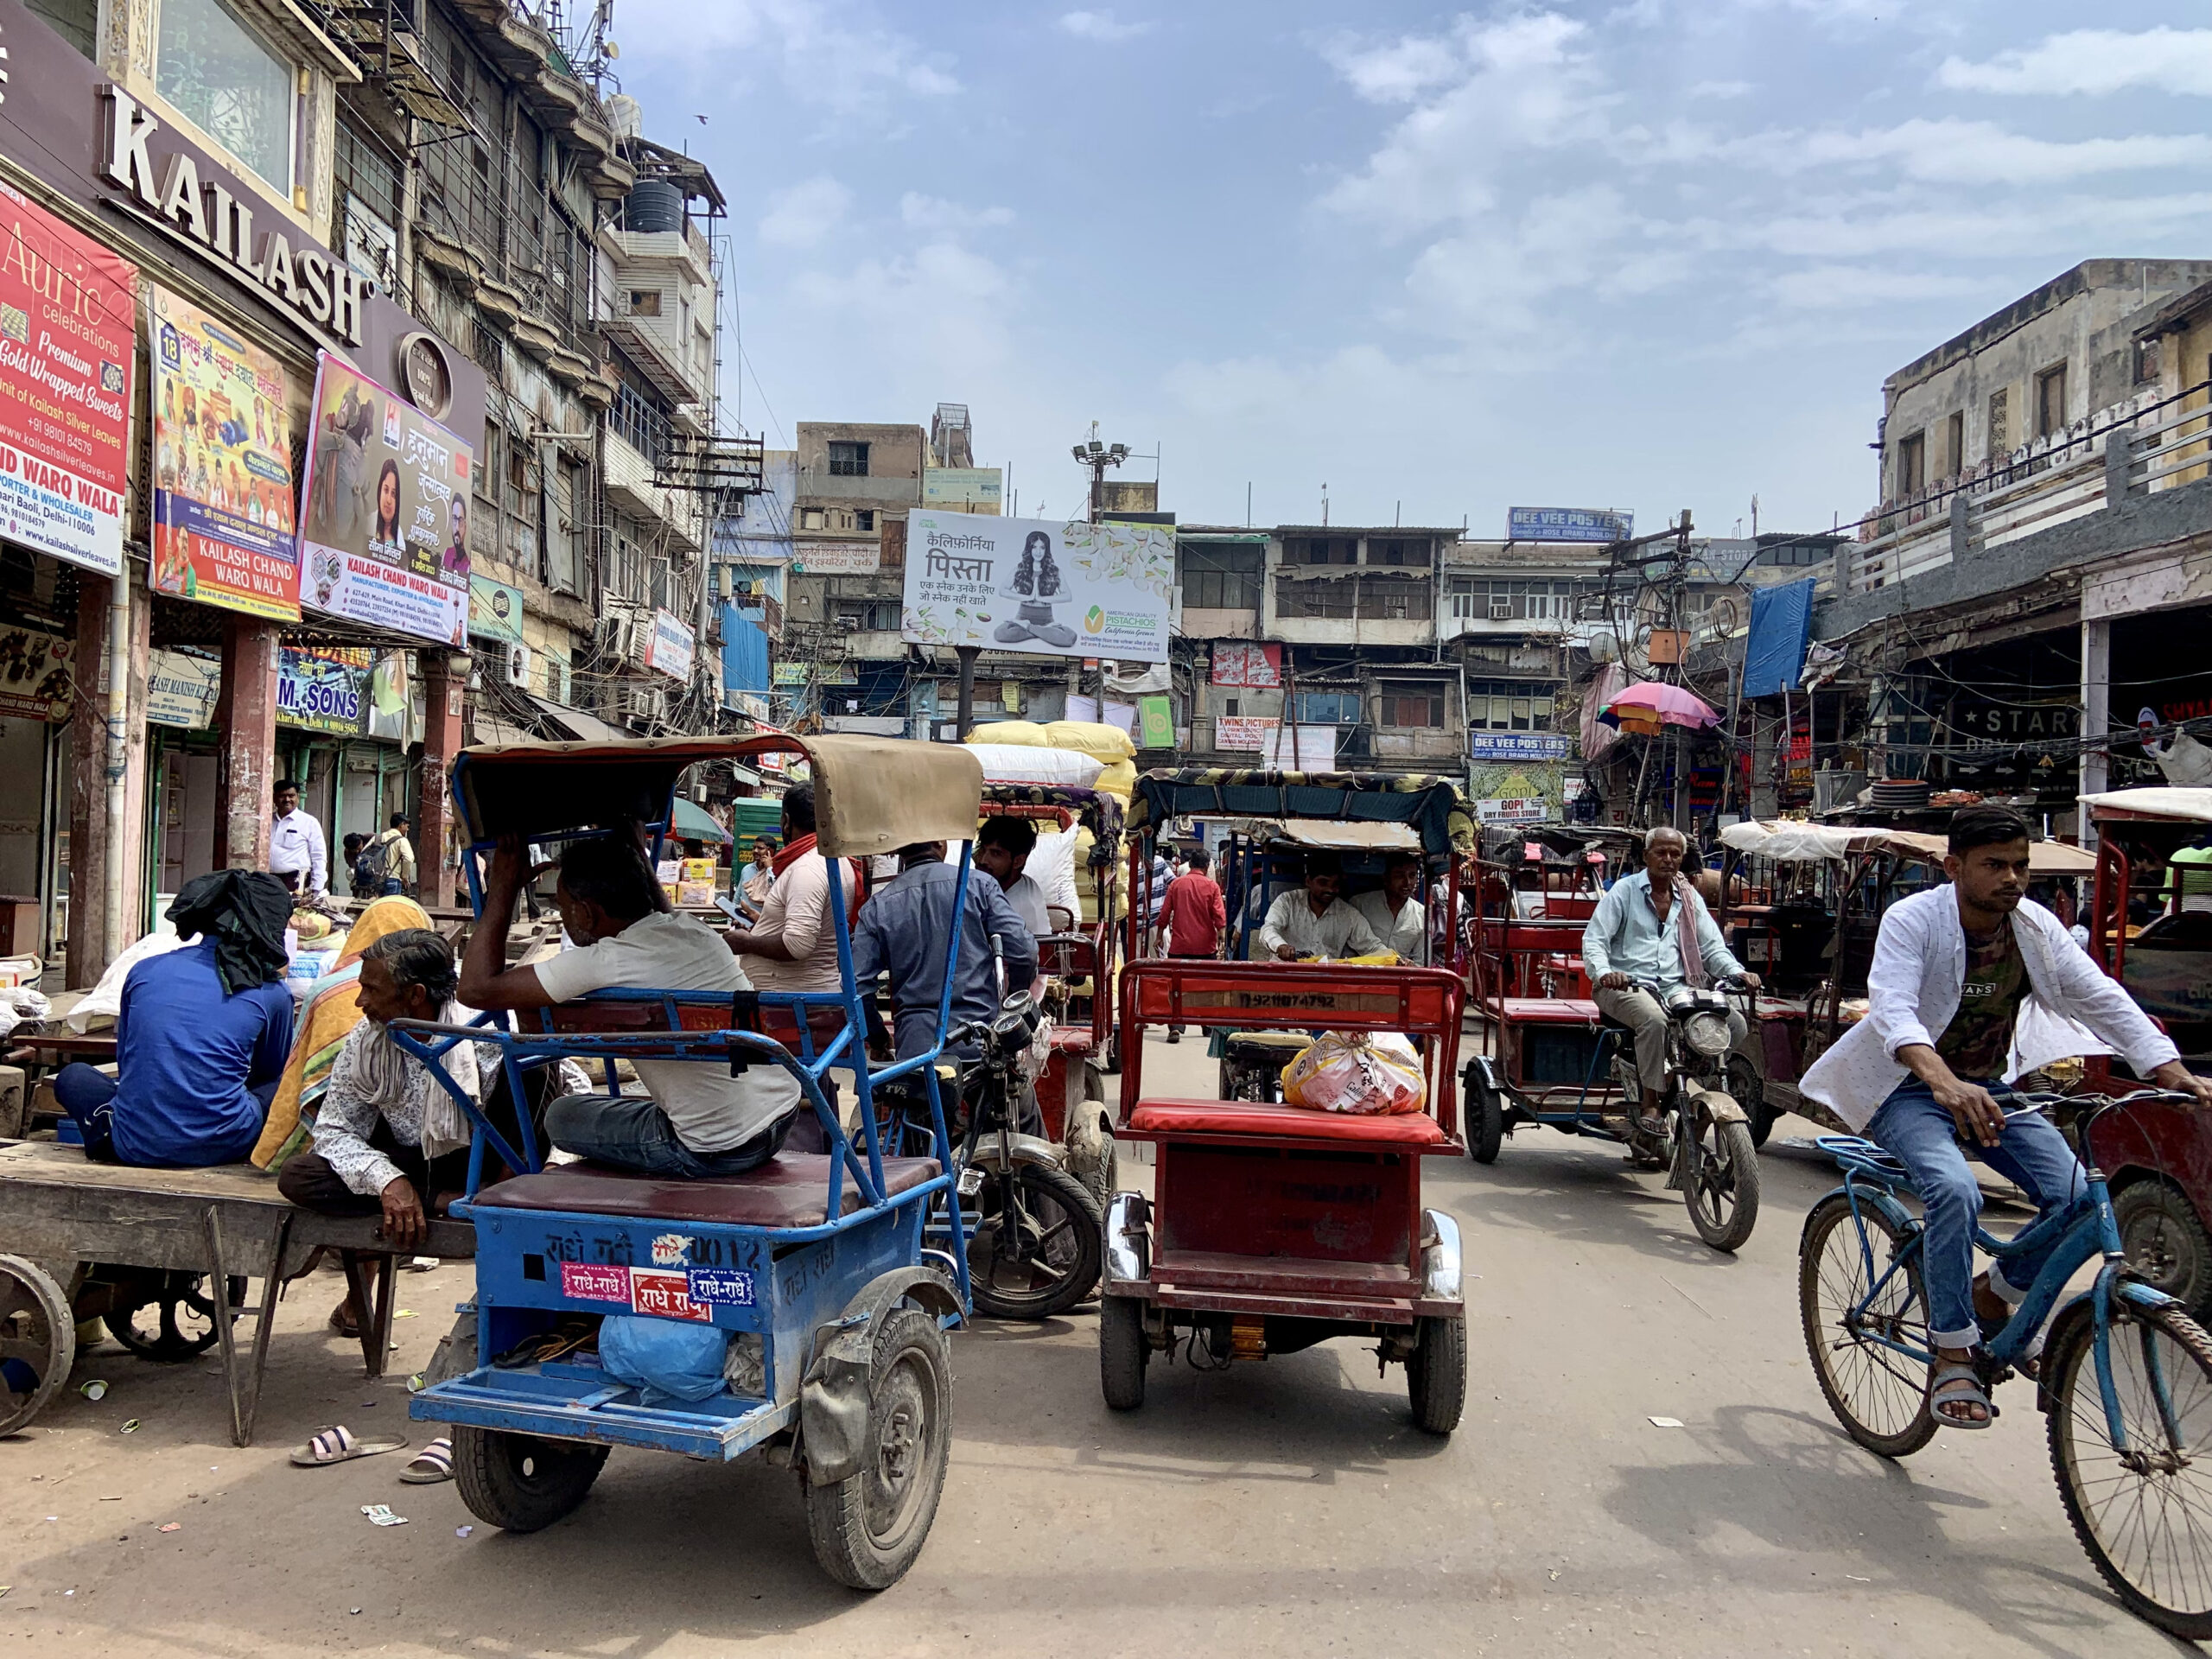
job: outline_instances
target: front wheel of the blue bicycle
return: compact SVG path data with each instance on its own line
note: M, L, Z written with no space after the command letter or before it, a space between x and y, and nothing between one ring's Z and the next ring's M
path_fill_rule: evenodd
M2179 1307L2115 1298L2112 1447L2097 1389L2097 1325L2066 1321L2044 1356L2051 1473L2075 1537L2128 1610L2188 1641L2212 1637L2212 1336ZM2161 1394L2179 1429L2168 1438Z

